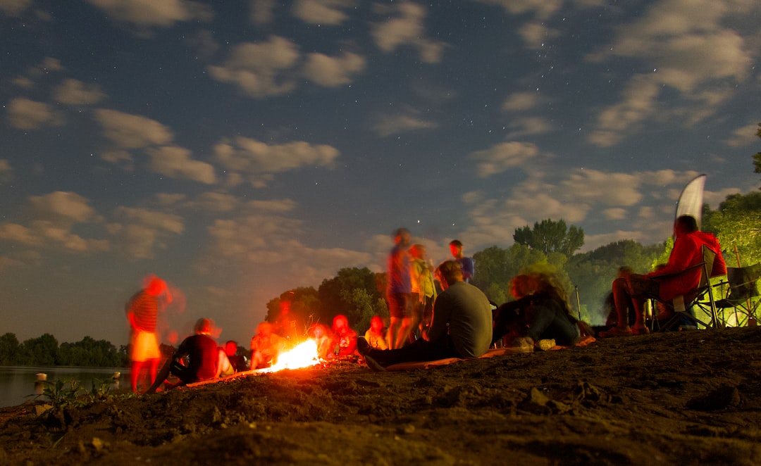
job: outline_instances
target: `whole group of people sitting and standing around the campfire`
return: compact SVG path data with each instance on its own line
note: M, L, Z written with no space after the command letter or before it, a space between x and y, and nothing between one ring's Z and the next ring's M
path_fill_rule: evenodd
M473 260L463 256L462 243L454 240L450 246L453 260L433 270L425 246L412 245L409 230L396 230L388 258L389 328L386 330L383 319L376 315L365 336L358 338L345 315L336 315L330 328L317 323L307 332L317 344L318 357L328 360L359 354L368 366L382 370L409 361L476 358L498 344L533 349L540 341L552 341L570 346L590 330L587 324L575 319L562 286L552 274L534 272L513 277L509 287L514 300L492 306L486 295L469 283ZM689 271L700 264L702 246L715 252L712 275L726 273L715 236L700 232L694 217L677 218L667 265L647 275L634 274L628 268L619 270L612 285L617 319L600 336L647 333L644 301L655 297L666 303L692 290L699 282L700 270L674 272ZM441 293L437 293L435 281ZM151 374L151 388L166 377L165 370L157 376L160 354L155 327L158 309L171 300L167 284L149 276L143 289L127 303L135 392L139 373L146 366ZM278 328L288 332L288 325ZM167 364L167 374L174 374L180 379L178 383L186 384L247 368L261 369L275 362L278 354L290 346L288 335L279 334L271 323L262 322L251 340L251 361L246 367L244 360L235 356L237 344L228 341L224 347L218 347L211 332L209 319L199 319L195 334L180 344ZM185 359L189 363L183 363Z

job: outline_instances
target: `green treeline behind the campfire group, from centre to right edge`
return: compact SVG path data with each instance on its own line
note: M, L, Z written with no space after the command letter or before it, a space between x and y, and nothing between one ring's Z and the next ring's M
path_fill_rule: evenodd
M718 209L706 204L702 230L714 233L721 243L729 267L752 265L761 260L761 192L729 195ZM517 228L509 248L492 246L475 252L476 274L473 284L496 304L505 303L508 282L524 271L551 271L565 287L568 302L581 319L593 325L605 322L605 299L618 268L628 265L645 274L668 260L670 231L664 242L645 246L622 240L590 252L577 252L584 245L584 230L568 227L564 220L542 220L533 227ZM304 330L314 322L330 325L338 314L349 318L358 332L369 327L373 315L388 315L384 301L386 274L368 268L342 268L336 277L325 279L320 287L299 287L282 293L267 303L266 320L276 322L284 301L290 319Z

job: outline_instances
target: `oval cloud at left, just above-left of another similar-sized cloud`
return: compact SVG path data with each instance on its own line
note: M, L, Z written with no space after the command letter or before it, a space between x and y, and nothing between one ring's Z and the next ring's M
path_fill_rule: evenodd
M123 149L163 145L174 139L169 128L145 116L97 109L95 119L103 127L103 136Z

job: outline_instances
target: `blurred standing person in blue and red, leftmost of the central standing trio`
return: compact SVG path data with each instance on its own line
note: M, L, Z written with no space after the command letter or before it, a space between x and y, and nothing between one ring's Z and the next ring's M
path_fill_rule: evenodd
M389 347L403 347L412 326L412 279L410 277L409 245L412 235L406 228L396 230L394 246L388 255L388 285L386 300L390 322L388 325Z

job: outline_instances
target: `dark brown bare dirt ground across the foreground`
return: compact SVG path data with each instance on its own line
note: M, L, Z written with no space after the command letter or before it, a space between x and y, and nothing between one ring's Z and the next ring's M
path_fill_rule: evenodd
M761 328L0 410L0 464L761 464Z

